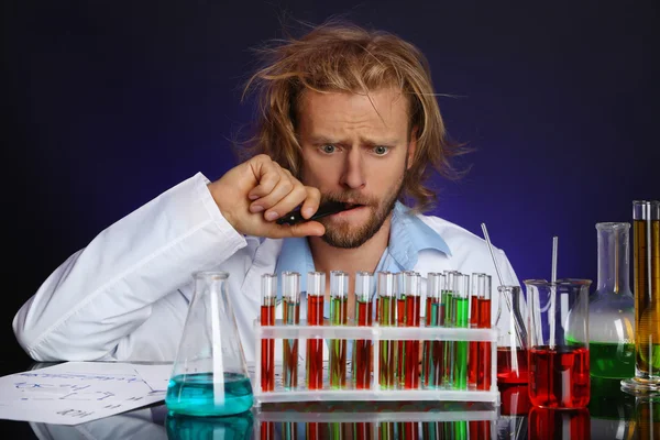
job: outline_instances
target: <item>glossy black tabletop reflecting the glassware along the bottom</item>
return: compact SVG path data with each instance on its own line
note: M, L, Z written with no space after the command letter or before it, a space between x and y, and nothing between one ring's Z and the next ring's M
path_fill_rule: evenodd
M580 410L530 407L527 387L510 386L501 388L499 407L442 402L296 403L263 405L234 417L195 418L168 415L161 404L76 426L0 420L0 432L55 440L660 439L660 399L627 395L619 381L592 378L591 391L588 407Z

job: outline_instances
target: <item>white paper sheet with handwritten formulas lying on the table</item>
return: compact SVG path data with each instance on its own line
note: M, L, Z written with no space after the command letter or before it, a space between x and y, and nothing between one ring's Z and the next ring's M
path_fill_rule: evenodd
M164 398L125 363L67 362L0 377L1 419L78 425Z

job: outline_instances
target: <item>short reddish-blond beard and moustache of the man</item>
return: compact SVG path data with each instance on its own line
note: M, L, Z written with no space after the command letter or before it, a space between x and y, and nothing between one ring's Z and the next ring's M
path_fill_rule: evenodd
M323 195L323 201L351 200L353 204L365 206L371 211L370 219L366 223L355 230L351 229L351 224L348 221L340 222L332 219L319 219L318 221L326 227L326 233L322 237L323 241L333 248L341 249L360 248L366 243L381 230L385 220L387 220L387 217L394 210L394 206L396 205L396 200L398 199L403 187L404 179L402 178L397 183L395 190L392 191L391 196L384 199L382 204L378 204L377 199L353 196L351 191Z

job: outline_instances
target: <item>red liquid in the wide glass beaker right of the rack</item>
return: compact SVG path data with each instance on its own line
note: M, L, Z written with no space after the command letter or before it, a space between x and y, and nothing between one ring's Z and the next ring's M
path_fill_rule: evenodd
M529 399L547 408L584 408L588 404L588 350L547 345L529 351Z

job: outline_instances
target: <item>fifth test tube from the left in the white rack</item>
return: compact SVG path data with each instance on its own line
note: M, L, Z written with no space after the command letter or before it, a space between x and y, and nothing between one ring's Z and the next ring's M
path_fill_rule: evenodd
M372 289L374 276L371 272L355 274L355 323L359 327L373 324ZM372 341L359 339L353 345L353 384L356 389L371 387L373 365Z

